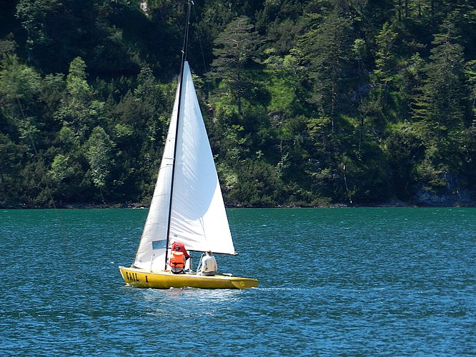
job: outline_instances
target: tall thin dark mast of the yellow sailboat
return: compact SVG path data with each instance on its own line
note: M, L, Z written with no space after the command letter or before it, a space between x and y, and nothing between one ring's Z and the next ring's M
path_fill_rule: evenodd
M169 255L169 243L170 243L170 222L172 221L172 197L174 196L174 176L175 176L175 159L177 156L177 138L179 135L179 119L180 119L180 110L182 109L182 91L184 84L184 67L185 61L187 61L187 44L189 40L189 25L190 25L190 9L192 8L193 1L188 0L187 6L187 24L185 24L185 34L184 34L184 44L182 46L182 61L180 64L180 91L179 91L179 105L177 108L177 123L175 127L175 139L174 139L174 157L172 161L172 182L170 183L170 201L169 201L169 218L167 221L167 237L165 242L165 265L164 270L167 269L167 257Z

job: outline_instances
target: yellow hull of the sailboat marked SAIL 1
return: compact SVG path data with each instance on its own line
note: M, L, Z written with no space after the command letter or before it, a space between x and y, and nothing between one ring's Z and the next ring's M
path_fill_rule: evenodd
M202 276L196 274L174 274L170 271L151 273L137 268L119 266L124 281L136 288L207 288L207 289L245 289L257 288L258 281L238 276Z

